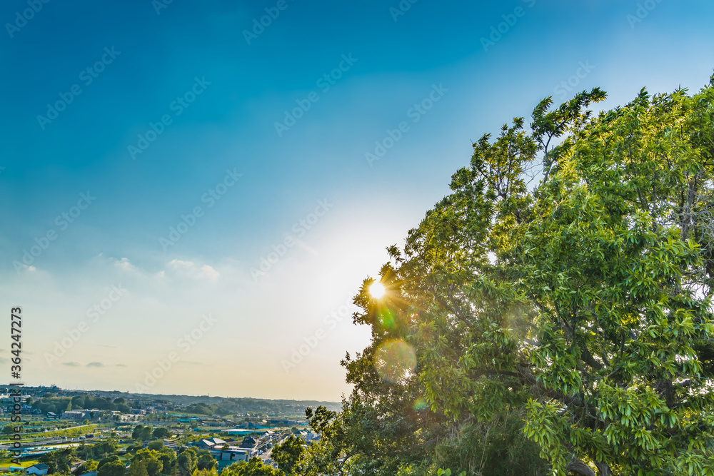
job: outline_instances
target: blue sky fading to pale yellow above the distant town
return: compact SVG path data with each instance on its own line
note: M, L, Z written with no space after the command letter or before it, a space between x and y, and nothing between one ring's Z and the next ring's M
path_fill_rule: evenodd
M24 380L337 400L338 361L368 343L343 306L471 142L544 96L700 88L713 18L673 0L4 2L0 305L24 309Z

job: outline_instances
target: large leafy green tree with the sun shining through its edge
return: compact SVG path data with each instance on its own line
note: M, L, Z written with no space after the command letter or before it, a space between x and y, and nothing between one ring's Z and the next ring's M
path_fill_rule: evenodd
M317 472L714 475L714 77L593 116L603 98L483 136L388 248L355 389L311 418Z

